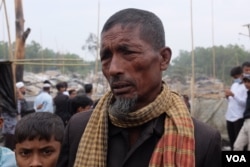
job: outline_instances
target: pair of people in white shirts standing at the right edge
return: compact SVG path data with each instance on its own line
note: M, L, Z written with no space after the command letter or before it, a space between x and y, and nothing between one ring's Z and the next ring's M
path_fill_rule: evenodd
M228 99L226 112L230 149L250 151L250 62L233 67L233 84L225 90Z

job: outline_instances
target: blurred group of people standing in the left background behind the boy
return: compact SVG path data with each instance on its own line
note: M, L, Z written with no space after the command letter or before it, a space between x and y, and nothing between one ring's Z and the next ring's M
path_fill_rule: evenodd
M87 84L92 85L92 84ZM26 115L34 112L51 112L58 115L67 125L67 122L71 116L77 112L85 111L93 106L94 101L91 98L91 93L86 93L84 88L77 92L75 89L67 90L66 82L58 82L55 87L57 94L55 97L51 95L51 87L53 85L48 81L43 82L41 91L34 99L33 106L28 104L25 99L26 87L24 82L16 83L17 92L17 116L6 117L6 113L3 113L5 118L5 126L2 133L4 134L5 146L14 149L14 129L17 122ZM91 90L92 91L92 90ZM79 98L81 100L79 100ZM84 109L84 110L83 110Z

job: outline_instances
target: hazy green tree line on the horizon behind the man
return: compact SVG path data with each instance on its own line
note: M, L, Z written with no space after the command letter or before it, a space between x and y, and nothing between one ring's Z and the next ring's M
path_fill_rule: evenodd
M7 42L0 41L0 59L8 59L8 44ZM14 44L13 44L14 46ZM96 36L90 34L86 40L86 44L83 49L90 52L93 56L96 54ZM241 65L245 61L250 60L250 52L246 51L244 47L238 45L215 46L216 60L216 78L221 80L227 85L231 84L231 78L228 75L230 69L234 66ZM80 59L80 56L72 53L56 53L55 51L45 48L35 41L26 45L26 58L27 59L41 59L41 58L66 58L66 59ZM195 78L212 78L213 77L213 65L212 65L212 48L195 48ZM54 60L52 63L61 63L62 61ZM48 62L45 62L48 63ZM51 62L49 62L51 63ZM79 73L87 75L95 70L94 61L78 61L67 62L77 63L79 66L65 66L65 73ZM88 66L81 66L81 64L89 64ZM100 63L99 63L100 64ZM44 72L46 70L61 70L62 67L58 66L44 66L42 65L25 65L25 71L30 72ZM186 79L191 76L191 52L181 50L179 55L171 62L169 70L164 75L168 75L171 79L176 78L180 82L185 84ZM100 69L100 67L99 67Z

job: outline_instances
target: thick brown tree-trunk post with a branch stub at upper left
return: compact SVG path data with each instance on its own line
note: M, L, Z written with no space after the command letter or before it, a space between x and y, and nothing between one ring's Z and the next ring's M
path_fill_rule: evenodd
M25 41L30 33L30 28L24 32L24 18L22 0L15 0L15 14L16 14L16 46L15 46L15 59L25 58ZM16 81L23 80L23 65L14 64L16 72Z

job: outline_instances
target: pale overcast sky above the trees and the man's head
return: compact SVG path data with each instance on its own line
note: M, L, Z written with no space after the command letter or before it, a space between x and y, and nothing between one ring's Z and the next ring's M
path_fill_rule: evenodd
M13 42L15 0L5 1ZM23 0L22 2L24 27L31 28L26 43L29 44L34 40L43 48L53 49L56 52L76 53L86 60L91 59L81 47L85 44L89 33L97 34L98 0ZM249 51L249 32L247 27L243 26L250 24L249 6L250 0L193 0L194 47L212 47L213 29L214 45L238 44ZM172 48L173 57L176 57L180 50L191 51L190 0L100 0L99 31L109 16L124 8L145 9L158 15L164 24L166 45ZM0 12L2 31L0 41L7 41L3 6Z

